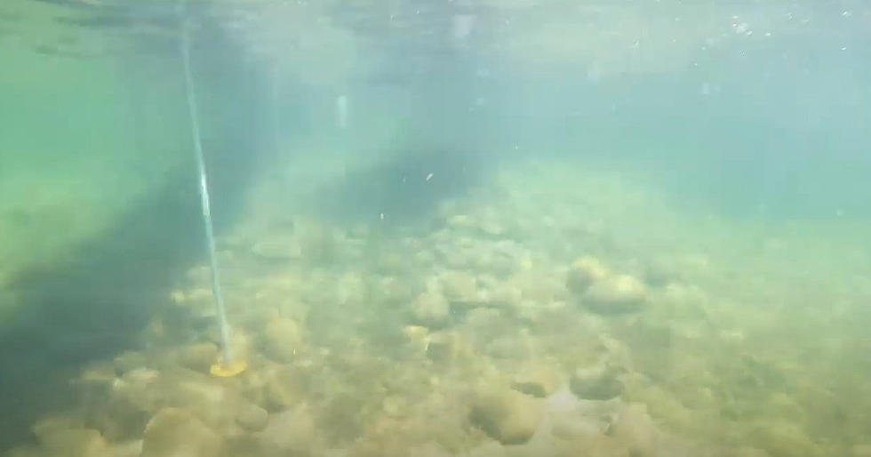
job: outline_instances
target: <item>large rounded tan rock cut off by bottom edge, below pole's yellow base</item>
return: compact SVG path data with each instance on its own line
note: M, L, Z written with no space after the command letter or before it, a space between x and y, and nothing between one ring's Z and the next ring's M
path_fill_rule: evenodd
M223 453L220 435L193 414L169 407L148 421L140 457L219 457Z

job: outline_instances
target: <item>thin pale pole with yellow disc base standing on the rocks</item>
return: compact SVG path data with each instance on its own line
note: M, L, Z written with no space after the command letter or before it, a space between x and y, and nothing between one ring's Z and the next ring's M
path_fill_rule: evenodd
M181 0L180 12L184 12L186 1ZM218 324L220 326L221 356L212 368L212 376L229 377L242 373L248 364L242 359L233 357L230 349L230 326L227 321L227 312L224 309L224 300L220 293L220 277L218 273L218 259L215 256L215 236L212 225L212 210L209 205L209 185L205 173L205 159L203 156L203 141L200 136L199 115L196 109L196 91L194 89L194 77L190 69L190 35L188 21L181 23L181 60L185 77L185 93L188 98L188 113L190 115L190 130L194 140L194 156L196 158L197 174L199 177L200 203L203 208L203 225L205 240L209 252L209 266L212 269L212 296L215 300Z

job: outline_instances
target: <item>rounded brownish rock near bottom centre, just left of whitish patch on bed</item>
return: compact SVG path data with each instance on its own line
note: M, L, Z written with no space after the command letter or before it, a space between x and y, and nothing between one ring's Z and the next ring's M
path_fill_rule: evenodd
M503 445L529 441L543 416L542 404L512 389L481 389L472 401L470 421Z

